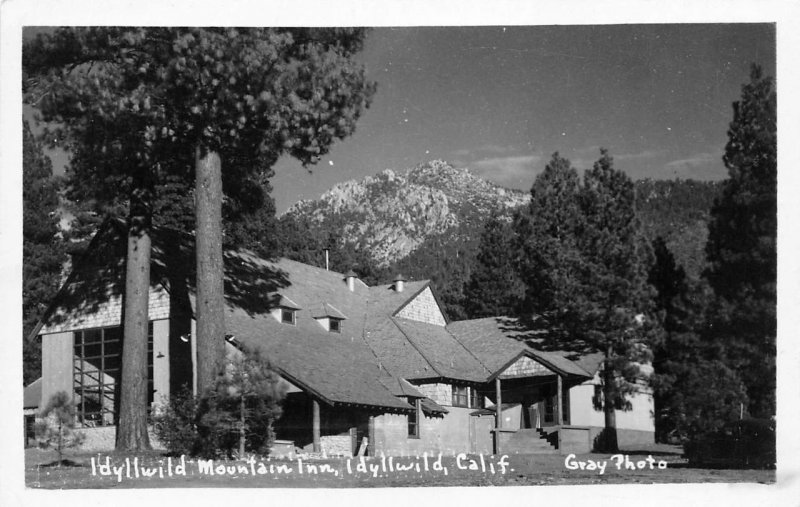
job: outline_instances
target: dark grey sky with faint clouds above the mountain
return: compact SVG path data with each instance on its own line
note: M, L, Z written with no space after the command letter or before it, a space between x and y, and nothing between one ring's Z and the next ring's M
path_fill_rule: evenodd
M444 159L527 190L558 151L608 148L635 178L721 179L731 104L751 63L775 75L771 24L377 28L378 92L309 174L281 160L278 211L334 183Z

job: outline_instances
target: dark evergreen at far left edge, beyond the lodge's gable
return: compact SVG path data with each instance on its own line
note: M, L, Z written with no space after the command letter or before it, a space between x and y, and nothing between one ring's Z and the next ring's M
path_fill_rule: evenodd
M58 229L58 181L28 122L22 126L23 383L41 376L39 340L26 338L53 299L66 260Z

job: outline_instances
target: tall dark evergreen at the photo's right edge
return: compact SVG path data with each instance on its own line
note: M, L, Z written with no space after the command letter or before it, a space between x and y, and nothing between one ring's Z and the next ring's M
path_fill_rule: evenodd
M709 338L744 381L749 412L775 414L777 283L777 98L772 78L753 66L733 104L722 195L711 210L709 268L717 300Z

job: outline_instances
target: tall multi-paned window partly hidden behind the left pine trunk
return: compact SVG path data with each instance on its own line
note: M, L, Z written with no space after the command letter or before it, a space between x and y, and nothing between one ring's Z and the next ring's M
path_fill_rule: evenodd
M107 426L116 422L121 366L121 327L75 333L72 381L80 424ZM152 322L147 332L147 402L148 406L153 402Z

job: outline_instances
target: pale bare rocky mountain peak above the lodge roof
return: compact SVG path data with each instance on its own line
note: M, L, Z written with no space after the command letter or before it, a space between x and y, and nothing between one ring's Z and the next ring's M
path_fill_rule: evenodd
M491 213L509 215L528 202L526 192L503 188L434 160L403 172L386 169L360 181L339 183L318 200L303 200L286 215L340 227L344 239L388 265L427 238L483 223Z

